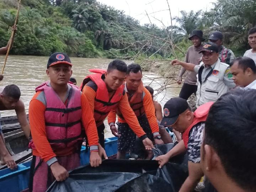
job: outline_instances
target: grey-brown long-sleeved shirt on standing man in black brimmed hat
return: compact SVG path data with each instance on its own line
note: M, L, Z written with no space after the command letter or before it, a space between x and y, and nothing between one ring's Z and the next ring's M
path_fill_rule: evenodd
M185 62L186 63L192 63L192 64L195 64L195 65L199 64L198 63L198 58L202 57L202 53L199 53L199 51L201 51L202 48L203 48L203 45L201 45L198 48L196 48L194 46L189 47L188 50L187 50ZM186 71L186 69L182 67L181 70L180 70L179 76L182 76L185 73L185 71ZM196 73L194 71L188 71L187 77L184 80L184 83L187 83L187 84L190 84L190 85L196 85L196 83L197 83Z

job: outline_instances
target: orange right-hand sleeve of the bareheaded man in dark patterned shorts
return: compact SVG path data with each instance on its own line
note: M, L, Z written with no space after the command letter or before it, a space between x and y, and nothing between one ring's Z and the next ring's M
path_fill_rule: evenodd
M158 132L159 134L159 126L156 121L155 107L154 107L152 97L146 88L144 88L144 92L145 92L145 96L143 98L143 106L145 109L146 117L149 122L149 126L153 134L156 132Z

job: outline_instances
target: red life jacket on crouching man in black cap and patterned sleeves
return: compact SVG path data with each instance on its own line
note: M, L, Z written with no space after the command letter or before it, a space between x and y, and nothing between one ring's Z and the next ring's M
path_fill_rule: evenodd
M185 148L187 149L188 145L188 139L189 139L189 133L192 127L194 127L199 122L205 122L208 113L210 110L210 107L213 105L214 102L208 102L204 103L203 105L199 106L197 110L194 112L194 118L192 124L185 130L185 132L182 134L182 139L185 144Z

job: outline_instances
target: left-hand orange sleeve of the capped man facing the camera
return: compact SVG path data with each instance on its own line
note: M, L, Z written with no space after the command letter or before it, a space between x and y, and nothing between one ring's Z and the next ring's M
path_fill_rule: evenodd
M33 138L34 145L36 146L36 151L39 153L44 162L54 158L56 154L53 152L47 137L46 137L46 128L44 121L44 112L46 106L37 100L36 97L40 92L37 92L32 98L29 108L29 121L31 135Z

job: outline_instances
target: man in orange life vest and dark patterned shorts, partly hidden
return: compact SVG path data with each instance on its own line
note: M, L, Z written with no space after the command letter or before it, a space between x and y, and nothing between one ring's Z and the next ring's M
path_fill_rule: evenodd
M152 97L142 83L142 69L140 65L128 65L124 90L128 96L129 105L148 138L154 141L155 144L164 144L159 134L159 126L155 116L155 107L152 102ZM117 124L119 134L117 159L124 159L127 151L134 151L136 134L130 129L119 109L112 110L108 114L108 124L110 125L112 133L117 132L115 126L116 113L118 115Z

